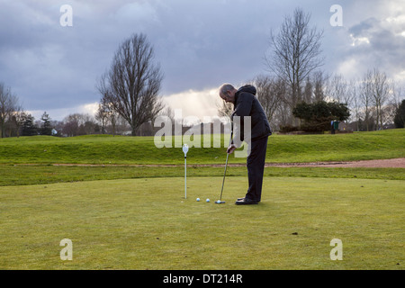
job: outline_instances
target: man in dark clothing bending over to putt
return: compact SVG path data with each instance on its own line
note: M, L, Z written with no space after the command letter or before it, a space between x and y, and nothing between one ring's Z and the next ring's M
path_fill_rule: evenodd
M234 121L235 116L240 117L240 127L238 136L240 141L243 141L245 130L244 117L250 117L250 143L248 143L247 156L247 176L248 189L244 198L238 198L237 205L257 204L262 196L263 174L265 172L267 138L272 134L270 125L266 118L266 113L262 105L258 102L256 88L252 85L244 85L238 90L230 84L220 86L220 98L227 103L233 103L234 112L231 116L231 121ZM238 148L238 143L232 140L227 153L232 153Z

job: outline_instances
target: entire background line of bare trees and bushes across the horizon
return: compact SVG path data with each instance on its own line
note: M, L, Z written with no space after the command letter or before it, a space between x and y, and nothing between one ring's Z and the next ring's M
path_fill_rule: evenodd
M301 8L284 17L269 39L266 73L247 82L257 87L274 130L325 130L338 119L352 130L403 127L405 101L401 86L378 67L357 79L328 75L321 67L323 31L311 27L311 14ZM160 93L163 73L145 34L132 34L115 51L111 66L97 80L101 95L94 115L74 113L52 121L44 112L40 121L23 110L11 88L0 83L1 137L30 135L77 136L94 133L152 135L159 114L170 117ZM220 103L219 116L230 115L232 104ZM165 109L166 108L166 109Z

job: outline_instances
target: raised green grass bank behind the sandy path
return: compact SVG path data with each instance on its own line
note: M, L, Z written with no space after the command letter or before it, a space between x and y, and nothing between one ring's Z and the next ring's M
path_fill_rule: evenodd
M223 137L221 138L223 139ZM211 139L212 140L212 139ZM203 139L202 139L203 141ZM405 130L336 135L272 135L267 162L348 161L405 157ZM225 148L190 148L190 163L222 164ZM0 139L3 164L182 164L181 148L156 148L154 137L47 136ZM229 163L245 158L229 157Z

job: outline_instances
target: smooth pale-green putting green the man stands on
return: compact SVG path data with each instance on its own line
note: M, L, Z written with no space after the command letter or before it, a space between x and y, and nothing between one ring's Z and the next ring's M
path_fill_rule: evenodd
M0 269L403 269L404 180L140 178L0 187ZM203 201L196 202L200 197ZM205 202L210 198L211 202ZM62 261L60 240L73 243ZM341 239L343 260L329 245Z

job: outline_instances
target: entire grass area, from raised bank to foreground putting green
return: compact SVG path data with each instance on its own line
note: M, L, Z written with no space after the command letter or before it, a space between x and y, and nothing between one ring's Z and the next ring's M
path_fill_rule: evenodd
M273 135L266 161L405 157L403 143L403 129ZM262 202L238 207L247 169L229 166L227 203L195 202L219 197L225 157L190 149L185 200L181 148L153 137L0 139L0 269L403 269L403 168L266 167Z

